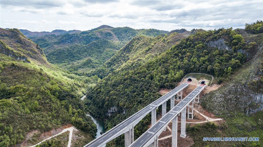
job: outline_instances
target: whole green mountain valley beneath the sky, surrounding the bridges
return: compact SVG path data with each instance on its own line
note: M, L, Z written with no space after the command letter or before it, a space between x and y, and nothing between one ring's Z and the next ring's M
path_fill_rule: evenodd
M136 141L153 126L148 105L189 78L182 98L202 81L207 87L193 105L194 119L186 120L187 137L177 137L178 146L261 146L263 33L252 29L258 24L263 25L170 32L108 25L88 31L1 28L0 146L85 146L147 109L132 126ZM167 112L170 103L165 102ZM181 116L178 135L180 125ZM160 147L172 146L172 123L166 128ZM125 131L116 134L103 146L124 146ZM240 134L260 140L203 141Z

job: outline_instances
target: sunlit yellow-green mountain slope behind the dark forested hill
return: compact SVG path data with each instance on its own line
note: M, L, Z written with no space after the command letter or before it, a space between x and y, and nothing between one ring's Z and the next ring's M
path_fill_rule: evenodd
M134 37L105 62L103 66L96 68L96 70L93 70L88 75L98 75L98 77L103 78L121 66L127 66L125 63L144 63L154 56L165 52L168 48L177 44L179 40L186 38L190 34L189 31L184 31L183 33L159 35L155 38L144 35Z

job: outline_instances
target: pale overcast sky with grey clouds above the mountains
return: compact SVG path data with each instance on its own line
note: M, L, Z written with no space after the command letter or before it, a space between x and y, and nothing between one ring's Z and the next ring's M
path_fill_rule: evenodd
M106 24L134 29L244 28L263 20L263 1L1 0L0 27L30 31L89 30Z

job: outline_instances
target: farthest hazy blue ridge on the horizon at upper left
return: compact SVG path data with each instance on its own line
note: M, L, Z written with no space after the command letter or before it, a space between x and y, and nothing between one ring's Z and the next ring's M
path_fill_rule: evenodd
M52 32L46 32L46 31L31 32L31 31L23 30L23 29L20 29L19 31L21 31L27 38L30 38L30 37L41 37L41 36L51 35L51 34L61 35L61 34L67 34L67 33L71 34L71 33L80 33L81 32L79 30L70 30L70 31L53 30Z

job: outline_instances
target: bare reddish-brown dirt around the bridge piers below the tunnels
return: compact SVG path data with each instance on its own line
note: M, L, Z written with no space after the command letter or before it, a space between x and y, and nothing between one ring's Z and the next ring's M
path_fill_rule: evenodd
M186 82L187 79L183 79L182 81ZM196 81L196 80L193 79L193 81ZM180 83L178 83L178 86L179 85L180 85ZM189 83L189 86L182 91L182 98L185 98L189 93L191 93L198 86L199 86L199 84L197 82ZM200 93L199 98L201 98L205 93L209 93L210 91L217 90L220 86L222 86L222 85L213 84L211 86L206 86L206 88ZM168 93L169 91L170 91L169 89L161 89L159 91L159 93L161 95L164 95L164 94ZM179 100L177 100L177 96L175 96L175 105L177 105L180 101L181 101L180 98L179 98ZM192 104L192 102L190 103L190 105L191 104ZM192 111L191 107L190 107L189 111L190 112ZM211 121L213 121L217 124L224 122L224 120L222 118L215 117L214 114L203 109L203 107L198 105L198 103L194 103L193 119L188 119L187 116L188 116L188 106L186 107L186 124L187 125L193 126L193 125L202 124L202 123L211 122ZM189 118L191 118L191 115L189 116ZM186 132L186 135L187 135L186 138L180 137L180 134L181 134L181 115L179 115L177 119L178 119L177 120L178 121L178 124L177 124L177 135L178 135L177 136L177 146L178 147L192 146L194 144L193 139L187 135L187 132ZM172 122L170 122L168 124L168 126L166 127L166 130L163 131L160 134L160 136L158 137L158 146L159 147L171 147L172 146L172 129L171 128L172 128Z

